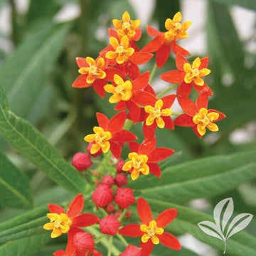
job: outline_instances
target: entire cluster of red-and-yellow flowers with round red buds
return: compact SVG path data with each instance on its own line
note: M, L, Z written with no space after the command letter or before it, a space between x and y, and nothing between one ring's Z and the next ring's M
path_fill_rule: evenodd
M142 35L140 21L131 20L126 11L122 20L113 20L114 28L109 28L110 45L101 50L96 59L76 59L80 75L73 82L73 87L92 86L97 95L108 98L116 114L109 118L97 112L98 125L84 138L88 142L87 153L77 153L73 157L73 166L94 189L92 208L100 217L81 213L84 206L82 194L75 197L67 212L50 204L50 213L47 214L50 222L43 228L53 230L52 238L68 233L65 251L59 250L55 256L102 255L95 247L105 235L110 235L109 250L112 250L112 236L117 235L124 242L126 248L119 254L123 256L148 256L154 245L159 243L181 250L178 239L164 230L176 218L177 210L164 210L154 218L149 203L144 198L136 200L134 191L129 188L129 182L139 180L139 176L152 174L161 178L159 161L174 154L173 149L156 146L156 129L192 127L201 138L206 129L217 132L215 122L225 117L218 110L208 109L208 99L213 95L204 81L210 73L208 57L197 57L189 63L186 56L190 53L178 45L179 40L188 37L187 30L191 26L190 21L181 23L181 20L180 12L172 19L167 18L164 32L147 26L146 31L153 39L140 49L136 43ZM149 62L154 53L156 64L151 73L141 73L139 65ZM175 55L177 69L159 76L171 85L157 95L151 87L152 78L156 68L163 67L171 53ZM176 93L169 94L175 87ZM192 89L198 95L196 102L190 98ZM180 114L171 110L175 100L183 110ZM142 124L144 138L141 143L136 142L137 136L129 132L132 124L137 123ZM129 153L124 156L126 161L121 158L125 144L129 146ZM129 210L136 201L139 222L125 225L132 214L136 216ZM99 229L101 235L87 232L90 229L86 227L90 225ZM139 247L128 245L123 236L139 238Z

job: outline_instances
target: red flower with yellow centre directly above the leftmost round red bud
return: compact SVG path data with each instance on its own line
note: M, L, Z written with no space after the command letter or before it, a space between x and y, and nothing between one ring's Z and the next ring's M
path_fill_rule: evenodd
M124 142L137 139L132 132L122 129L126 120L125 112L119 112L110 120L105 114L97 113L96 116L99 127L93 127L95 134L85 136L85 142L92 142L90 153L95 154L100 150L107 153L110 150L119 159Z

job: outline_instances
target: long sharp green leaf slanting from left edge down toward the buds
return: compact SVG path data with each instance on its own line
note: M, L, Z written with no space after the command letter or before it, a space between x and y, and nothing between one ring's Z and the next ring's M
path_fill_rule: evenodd
M0 133L14 148L68 191L80 193L85 183L78 171L65 161L43 135L26 120L8 110L0 87Z

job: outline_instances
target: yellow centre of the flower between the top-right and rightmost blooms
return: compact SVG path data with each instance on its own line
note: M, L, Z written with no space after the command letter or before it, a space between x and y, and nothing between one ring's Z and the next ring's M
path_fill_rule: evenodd
M201 65L201 60L199 57L193 61L192 67L189 63L185 63L183 65L183 70L186 72L186 75L184 78L184 81L186 83L191 83L193 81L196 85L200 85L200 86L204 85L204 81L202 77L210 74L210 70L208 68L199 69L200 65Z

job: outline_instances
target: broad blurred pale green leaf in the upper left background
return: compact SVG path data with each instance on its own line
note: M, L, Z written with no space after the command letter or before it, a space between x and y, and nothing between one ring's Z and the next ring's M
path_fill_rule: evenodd
M2 65L0 80L4 81L9 105L21 117L26 117L41 94L69 29L70 25L56 26L49 21L34 24Z

